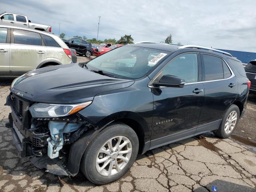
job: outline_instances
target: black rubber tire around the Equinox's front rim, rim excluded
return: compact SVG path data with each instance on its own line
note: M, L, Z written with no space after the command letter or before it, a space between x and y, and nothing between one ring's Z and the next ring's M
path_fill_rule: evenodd
M96 169L96 158L98 156L98 152L100 148L111 138L115 136L124 136L128 138L132 144L132 153L130 156L130 160L127 162L126 166L120 172L112 175L112 176L103 176ZM82 156L80 170L86 176L86 178L97 185L108 184L115 180L121 178L132 166L134 161L136 160L139 149L139 141L136 133L132 128L127 126L126 124L118 123L112 124L96 135L89 146L86 148L84 155ZM114 160L113 160L114 161Z

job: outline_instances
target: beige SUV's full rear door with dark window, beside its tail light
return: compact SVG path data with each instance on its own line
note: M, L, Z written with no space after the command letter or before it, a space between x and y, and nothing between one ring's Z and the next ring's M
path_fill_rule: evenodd
M15 75L36 69L47 56L40 34L20 29L13 29L10 52L10 70Z

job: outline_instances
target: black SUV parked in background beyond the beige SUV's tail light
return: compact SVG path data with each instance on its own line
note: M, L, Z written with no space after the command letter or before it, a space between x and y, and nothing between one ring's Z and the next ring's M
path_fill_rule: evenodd
M62 40L69 48L76 50L78 55L85 55L86 57L90 57L92 55L93 50L90 42L76 37L68 37Z

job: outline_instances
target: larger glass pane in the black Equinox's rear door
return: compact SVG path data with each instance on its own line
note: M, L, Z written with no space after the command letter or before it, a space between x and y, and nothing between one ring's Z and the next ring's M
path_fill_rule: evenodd
M223 79L222 59L216 56L201 54L204 63L205 81Z

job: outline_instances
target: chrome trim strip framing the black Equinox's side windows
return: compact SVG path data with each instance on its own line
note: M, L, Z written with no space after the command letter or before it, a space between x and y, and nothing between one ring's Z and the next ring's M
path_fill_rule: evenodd
M182 53L180 55L183 55L183 54L187 54L187 53L198 53L198 52L186 52L186 53ZM204 54L204 53L203 53ZM180 56L180 55L177 55L176 57ZM212 55L212 54L209 54L209 55ZM212 56L215 56L215 55L212 55ZM176 57L172 58L172 60L174 60ZM219 56L216 56L216 57L219 57ZM221 58L221 57L219 57ZM221 58L222 60L224 60L223 58ZM170 60L170 62L172 62L172 60ZM166 65L168 65L170 62L168 62ZM230 72L231 72L231 76L229 76L228 78L225 78L225 79L217 79L217 80L210 80L210 81L198 81L198 82L193 82L193 83L186 83L184 84L185 85L191 85L191 84L199 84L199 83L208 83L208 82L215 82L215 81L224 81L224 80L228 80L228 79L231 79L235 76L234 72L232 71L232 69L230 68L230 66L228 65L228 63L224 60L224 62L226 63L226 65L228 66ZM166 66L165 65L165 66ZM164 66L164 67L165 67ZM164 86L160 86L160 87L154 87L152 86L152 83L154 82L154 80L156 78L158 78L158 76L161 74L162 70L164 69L164 67L158 72L158 74L156 74L156 76L154 76L154 78L152 78L152 80L148 83L148 87L150 88L164 88Z

